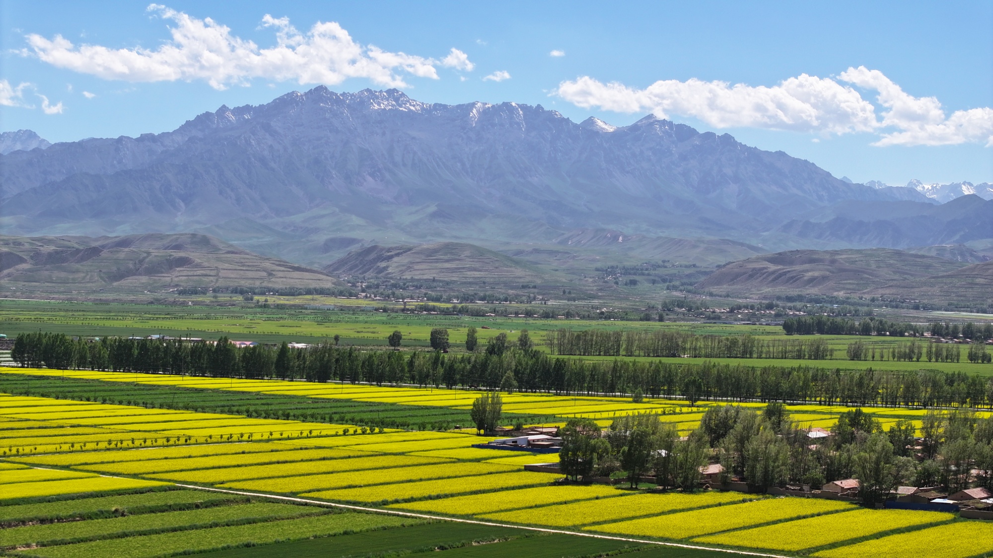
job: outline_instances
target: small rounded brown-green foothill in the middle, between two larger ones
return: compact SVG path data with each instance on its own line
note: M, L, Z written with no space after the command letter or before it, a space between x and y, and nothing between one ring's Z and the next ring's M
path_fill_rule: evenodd
M417 246L373 245L350 252L324 268L338 276L520 283L545 278L534 266L464 242Z

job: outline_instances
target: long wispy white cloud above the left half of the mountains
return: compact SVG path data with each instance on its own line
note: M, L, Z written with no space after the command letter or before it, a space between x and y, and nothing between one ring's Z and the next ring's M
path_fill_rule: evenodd
M439 62L363 46L335 22L318 22L303 33L288 18L266 15L261 25L275 31L276 45L260 49L211 18L197 19L158 4L148 10L173 22L169 28L172 40L157 49L73 45L61 35L48 39L32 34L27 36L29 49L25 53L58 68L104 79L203 79L216 89L247 84L255 77L301 84L337 84L350 77L364 77L379 85L400 87L407 86L404 75L437 79L438 65L467 71L473 68L469 57L455 49Z

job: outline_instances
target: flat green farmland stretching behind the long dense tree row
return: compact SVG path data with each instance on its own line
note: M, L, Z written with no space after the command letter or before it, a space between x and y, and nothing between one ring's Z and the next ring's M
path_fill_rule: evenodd
M290 298L290 297L283 297ZM320 298L320 297L319 297ZM355 301L353 301L355 302ZM355 305L353 305L355 306ZM540 320L534 318L468 317L442 315L416 315L375 311L319 311L279 308L228 308L204 306L154 306L119 303L78 303L53 301L0 300L0 333L12 338L20 333L46 331L82 337L142 337L165 335L216 339L227 336L232 340L258 343L319 343L340 336L343 345L383 347L386 337L394 330L403 334L403 347L425 349L433 328L449 330L449 339L455 350L465 347L465 332L477 328L481 344L498 334L505 333L510 342L516 340L520 330L528 330L538 349L547 351L545 332L560 328L575 330L678 330L695 335L761 336L767 340L810 339L809 336L785 336L780 327L721 325L685 322L618 322L586 320ZM483 328L488 329L483 329ZM722 358L722 362L744 365L808 365L842 370L918 370L930 369L943 372L993 374L993 364L975 364L965 357L965 346L960 346L959 362L849 360L845 350L855 341L867 349L882 354L893 347L911 343L909 338L818 336L834 349L834 358L818 360L793 360L773 358ZM921 341L919 340L919 343ZM924 341L925 343L925 341ZM886 356L889 358L889 356ZM615 356L583 356L587 360L612 360ZM626 359L646 359L625 357ZM674 363L691 363L706 358L650 358ZM713 359L711 359L713 360Z

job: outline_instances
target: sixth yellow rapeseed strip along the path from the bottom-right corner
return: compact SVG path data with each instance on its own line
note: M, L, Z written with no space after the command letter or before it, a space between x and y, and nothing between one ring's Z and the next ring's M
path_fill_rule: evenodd
M375 502L425 498L444 494L456 495L483 490L536 487L546 485L560 478L559 475L547 473L502 473L499 475L463 477L461 479L422 481L420 483L320 490L308 492L303 495L331 500ZM497 494L492 495L493 497L498 497Z

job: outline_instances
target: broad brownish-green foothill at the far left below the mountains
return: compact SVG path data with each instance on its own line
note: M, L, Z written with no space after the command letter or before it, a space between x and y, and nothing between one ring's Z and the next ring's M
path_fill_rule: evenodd
M316 269L196 233L0 236L0 281L15 290L44 292L341 285Z

